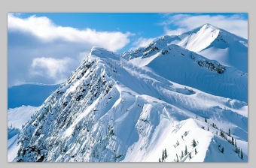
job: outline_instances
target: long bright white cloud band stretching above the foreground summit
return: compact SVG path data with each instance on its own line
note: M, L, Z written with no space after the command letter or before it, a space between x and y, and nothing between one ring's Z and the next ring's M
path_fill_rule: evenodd
M20 18L13 13L8 14L8 31L26 32L38 37L44 42L66 40L68 42L84 43L85 45L101 46L111 51L126 46L130 42L130 32L96 31L90 28L78 29L56 26L47 17Z

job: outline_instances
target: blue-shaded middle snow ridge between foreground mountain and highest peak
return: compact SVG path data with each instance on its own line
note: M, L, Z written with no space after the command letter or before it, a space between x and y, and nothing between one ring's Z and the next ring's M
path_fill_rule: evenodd
M221 65L181 46L165 46L163 40L151 43L144 50L136 50L122 56L134 65L151 68L161 77L175 83L212 95L248 102L248 74Z

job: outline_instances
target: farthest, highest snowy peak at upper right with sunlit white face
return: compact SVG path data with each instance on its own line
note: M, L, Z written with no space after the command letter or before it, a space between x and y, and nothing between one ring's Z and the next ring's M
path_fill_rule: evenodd
M248 73L248 40L210 24L181 34L173 44Z

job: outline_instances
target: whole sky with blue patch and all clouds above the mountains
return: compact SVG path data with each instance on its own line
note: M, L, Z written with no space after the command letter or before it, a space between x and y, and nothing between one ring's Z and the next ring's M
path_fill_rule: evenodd
M248 13L8 13L8 86L62 83L92 46L120 53L205 23L248 38Z

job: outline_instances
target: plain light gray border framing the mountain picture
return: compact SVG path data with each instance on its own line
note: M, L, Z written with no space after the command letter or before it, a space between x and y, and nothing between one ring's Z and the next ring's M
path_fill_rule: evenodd
M0 2L0 33L1 33L1 99L0 99L0 112L3 113L1 117L1 166L4 167L216 167L216 166L232 166L232 167L248 167L252 166L255 162L254 154L252 151L255 147L254 135L252 134L254 123L252 118L255 118L255 104L251 104L254 100L255 91L255 80L252 78L252 72L255 71L255 9L252 5L253 1L206 1L206 0L183 0L183 1L168 1L168 0L157 0L157 1L120 1L120 0L93 0L93 1L81 1L81 0L44 0L44 1L1 1ZM8 12L160 12L160 13L172 13L172 12L243 12L248 13L248 163L8 163L7 161L7 13Z

